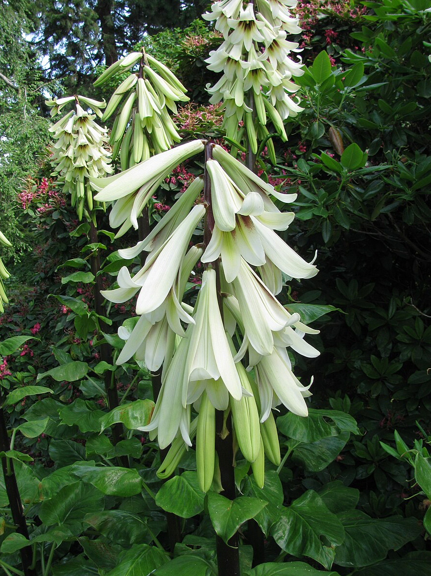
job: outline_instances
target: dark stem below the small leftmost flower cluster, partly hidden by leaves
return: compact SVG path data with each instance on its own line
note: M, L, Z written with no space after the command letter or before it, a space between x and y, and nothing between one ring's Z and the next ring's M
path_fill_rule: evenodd
M97 228L94 226L93 222L90 222L90 242L97 244ZM103 305L103 296L101 295L101 290L103 289L102 286L102 278L99 274L100 272L100 256L99 250L96 249L92 258L91 258L91 271L94 276L94 286L93 286L93 295L94 295L94 308L96 309L96 314L99 316L106 316L106 310ZM101 331L107 331L108 326L99 319L99 325ZM100 345L100 359L101 361L107 362L108 364L112 364L112 348L109 346L107 342ZM115 380L111 381L111 372L106 370L104 373L104 382L105 382L105 389L106 394L108 397L108 408L109 410L114 410L117 406L119 406L118 401L118 392L115 386ZM120 440L123 439L123 426L122 424L114 424L112 426L112 436L114 439L114 444L118 444ZM119 457L120 462L123 466L128 468L128 458L127 456Z

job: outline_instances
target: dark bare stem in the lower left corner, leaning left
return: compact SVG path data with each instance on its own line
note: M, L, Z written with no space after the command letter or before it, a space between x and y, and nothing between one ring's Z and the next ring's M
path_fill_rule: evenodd
M3 412L2 408L0 408L0 450L2 452L10 450L9 438L7 437L5 412ZM17 478L14 472L12 458L3 457L2 468L13 522L17 526L17 532L29 540L27 522L25 521L25 516L22 512L21 497L20 492L18 491ZM35 571L32 570L33 552L31 547L26 546L25 548L21 548L20 555L22 568L24 569L24 576L33 576Z

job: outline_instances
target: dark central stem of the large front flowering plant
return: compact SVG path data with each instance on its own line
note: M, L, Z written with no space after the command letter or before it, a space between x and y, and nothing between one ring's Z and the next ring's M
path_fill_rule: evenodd
M205 228L203 230L203 242L208 245L214 229L214 215L211 209L211 180L206 168L206 162L213 158L213 144L207 142L205 145L205 175L203 187L203 200L207 204L205 215ZM207 264L216 271L217 297L220 314L223 318L223 306L220 295L220 272L218 260ZM227 431L227 434L226 434ZM222 485L221 494L230 500L235 500L235 475L233 472L233 445L232 445L232 423L230 414L224 422L224 412L216 410L216 451L218 455L218 465L220 467L220 479ZM216 536L218 576L239 576L240 558L238 548L238 535L235 533L228 544L220 537Z

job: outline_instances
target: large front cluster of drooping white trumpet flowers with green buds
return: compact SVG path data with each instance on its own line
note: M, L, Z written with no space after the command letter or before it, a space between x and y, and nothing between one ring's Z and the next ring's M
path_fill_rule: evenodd
M316 331L275 298L283 286L282 274L317 274L313 262L305 262L275 232L286 230L294 214L279 211L273 199L292 202L296 195L277 192L221 146L206 146L211 156L205 164L210 204L207 196L204 203L196 203L203 188L202 178L196 177L148 237L119 251L129 260L148 251L141 270L131 276L127 267L121 268L118 287L103 291L116 304L137 295L137 317L118 331L125 343L116 363L134 356L152 371L163 364L152 420L140 428L150 431L150 438L157 435L161 448L172 443L173 452L159 474L168 473L196 435L198 477L205 491L214 474L215 411L232 411L239 448L262 485L264 455L279 462L271 408L282 403L295 414L307 415L304 397L310 395L309 386L294 376L288 350L305 357L319 354L304 340ZM130 192L137 183L145 189L160 181L167 170L162 158L166 154L154 157L151 169L145 169L147 161L123 173L115 180L116 194L119 189ZM204 217L206 230L211 222L211 237L191 245ZM199 260L205 270L191 306L183 301L184 290ZM254 378L243 366L245 358ZM194 420L192 406L199 412Z

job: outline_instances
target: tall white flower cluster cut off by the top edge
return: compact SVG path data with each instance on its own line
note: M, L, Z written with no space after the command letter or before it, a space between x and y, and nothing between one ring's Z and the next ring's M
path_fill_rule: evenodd
M203 14L216 20L224 36L221 46L210 52L208 69L222 72L212 88L210 102L223 101L226 109L223 126L229 138L241 140L244 128L254 153L258 140L267 137L267 121L286 140L283 120L296 116L303 108L292 97L298 86L292 77L303 74L301 60L290 58L298 44L286 39L301 32L297 18L290 14L296 0L220 0ZM244 128L238 134L239 122ZM270 142L271 143L271 142Z

